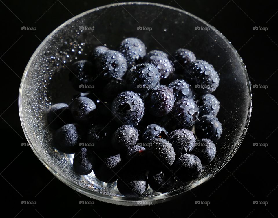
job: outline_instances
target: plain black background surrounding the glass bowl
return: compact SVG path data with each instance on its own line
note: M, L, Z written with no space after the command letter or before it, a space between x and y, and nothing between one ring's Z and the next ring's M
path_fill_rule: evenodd
M116 1L115 1L116 2ZM5 217L278 217L277 204L277 19L275 1L154 1L182 8L222 32L239 51L253 89L251 122L235 156L215 178L184 197L144 207L117 206L89 199L64 185L36 158L26 143L18 113L21 77L35 49L52 30L74 15L112 1L7 1L1 8L1 208ZM277 13L277 14L276 14ZM23 31L22 26L36 27ZM268 30L253 30L253 27ZM253 143L267 143L254 147ZM36 201L22 205L21 201ZM79 205L79 201L94 205ZM209 201L210 205L196 205ZM266 201L254 205L253 201Z

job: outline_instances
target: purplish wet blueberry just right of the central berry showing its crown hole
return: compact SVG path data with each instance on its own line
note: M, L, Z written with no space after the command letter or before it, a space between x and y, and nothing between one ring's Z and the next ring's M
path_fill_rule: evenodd
M175 97L173 89L157 86L149 91L146 98L146 108L153 116L166 116L174 107Z

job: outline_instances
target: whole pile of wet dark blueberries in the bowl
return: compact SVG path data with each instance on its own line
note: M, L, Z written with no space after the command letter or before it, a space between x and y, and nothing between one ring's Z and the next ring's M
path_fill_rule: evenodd
M69 69L80 93L69 105L52 105L47 120L52 145L74 153L77 174L93 171L105 183L117 180L121 194L140 197L148 185L168 192L197 179L215 157L222 126L211 93L219 76L192 51L146 53L140 39L126 38L117 51L98 46Z

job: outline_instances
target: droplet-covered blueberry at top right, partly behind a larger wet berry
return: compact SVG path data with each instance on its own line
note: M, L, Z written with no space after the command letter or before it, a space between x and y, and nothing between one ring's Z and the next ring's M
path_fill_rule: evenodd
M194 53L184 48L177 49L173 54L173 64L178 73L182 72L184 67L195 60Z

